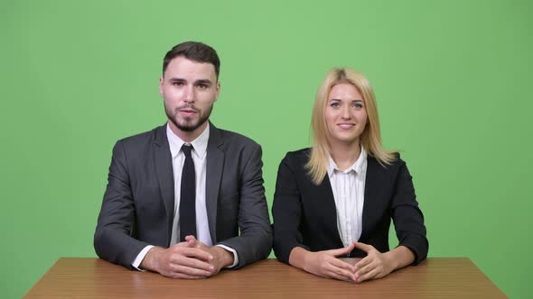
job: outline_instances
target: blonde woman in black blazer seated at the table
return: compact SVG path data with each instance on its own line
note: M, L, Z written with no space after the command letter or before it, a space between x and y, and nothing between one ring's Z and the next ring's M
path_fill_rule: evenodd
M381 147L374 92L332 68L313 107L313 148L289 152L277 173L276 257L318 276L361 282L427 256L424 216L406 163ZM390 219L399 245L388 248ZM355 265L340 257L362 258Z

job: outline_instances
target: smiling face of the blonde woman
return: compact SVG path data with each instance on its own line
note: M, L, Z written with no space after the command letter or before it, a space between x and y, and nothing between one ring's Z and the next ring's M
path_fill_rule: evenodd
M367 124L367 110L359 90L348 83L333 86L328 95L325 117L332 145L359 143Z

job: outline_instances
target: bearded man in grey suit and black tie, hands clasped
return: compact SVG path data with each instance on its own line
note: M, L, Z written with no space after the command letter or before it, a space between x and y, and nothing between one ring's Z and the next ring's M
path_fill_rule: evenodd
M100 258L202 278L268 256L261 148L209 122L219 72L217 52L201 42L166 53L159 92L168 122L117 141L94 237Z

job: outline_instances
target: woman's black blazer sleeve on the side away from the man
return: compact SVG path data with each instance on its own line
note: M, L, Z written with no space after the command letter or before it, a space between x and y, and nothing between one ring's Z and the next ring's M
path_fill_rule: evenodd
M429 243L425 238L424 215L416 202L415 187L406 163L400 161L392 198L392 220L399 245L406 246L415 254L414 264L427 257Z

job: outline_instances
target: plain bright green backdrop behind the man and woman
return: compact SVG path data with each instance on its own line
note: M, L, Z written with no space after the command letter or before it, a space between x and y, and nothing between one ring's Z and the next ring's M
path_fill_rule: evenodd
M326 71L356 68L414 177L429 256L471 258L510 297L531 296L532 6L2 1L2 297L57 258L96 256L111 149L165 122L162 59L188 40L220 54L211 120L263 146L269 204L285 152L309 145Z

